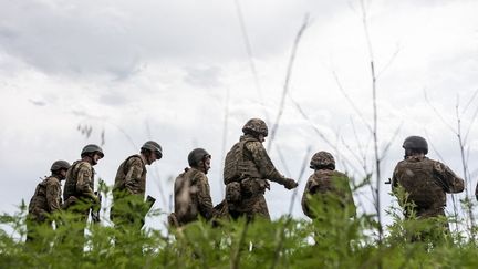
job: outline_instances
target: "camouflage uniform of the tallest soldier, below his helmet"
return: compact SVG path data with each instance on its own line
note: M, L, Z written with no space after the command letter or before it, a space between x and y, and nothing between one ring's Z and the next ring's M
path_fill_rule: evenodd
M236 161L230 164L226 162L225 166L229 213L235 219L242 215L248 219L256 215L270 219L264 198L266 188L269 188L267 179L281 185L288 179L276 169L266 148L256 136L245 134L231 151L235 148L238 148ZM228 169L238 169L239 176L228 178Z

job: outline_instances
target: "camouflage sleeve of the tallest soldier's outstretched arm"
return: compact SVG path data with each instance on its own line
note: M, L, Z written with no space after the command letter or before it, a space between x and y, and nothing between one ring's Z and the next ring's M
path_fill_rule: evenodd
M252 154L253 162L263 178L284 184L285 177L276 169L262 143L249 142L246 144L246 148Z

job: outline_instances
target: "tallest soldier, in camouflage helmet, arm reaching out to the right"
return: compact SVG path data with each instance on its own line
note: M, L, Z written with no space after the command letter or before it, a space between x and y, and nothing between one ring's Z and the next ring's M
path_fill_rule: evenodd
M298 184L281 175L273 166L262 145L268 127L260 118L251 118L242 127L243 136L226 156L224 180L229 214L233 219L246 216L251 220L256 215L270 219L264 193L272 180L292 189Z

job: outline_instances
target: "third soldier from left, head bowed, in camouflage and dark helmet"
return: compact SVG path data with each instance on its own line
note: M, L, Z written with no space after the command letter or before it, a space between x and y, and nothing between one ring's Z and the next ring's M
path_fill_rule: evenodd
M136 203L143 204L145 199L146 165L152 165L162 157L162 146L154 141L148 141L142 146L139 154L127 157L119 165L113 187L113 207L111 210L111 218L117 228L129 224L136 225L141 229L144 225L145 208L141 206L134 208L134 206L137 205ZM129 199L124 199L126 197Z

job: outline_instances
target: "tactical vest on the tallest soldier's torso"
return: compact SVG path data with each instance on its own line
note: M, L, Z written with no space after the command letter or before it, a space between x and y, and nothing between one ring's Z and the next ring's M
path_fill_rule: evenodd
M242 139L227 153L224 168L225 184L240 182L247 177L261 178L258 167L252 162L252 156L245 151L246 143L256 141L254 138Z

